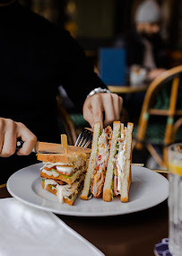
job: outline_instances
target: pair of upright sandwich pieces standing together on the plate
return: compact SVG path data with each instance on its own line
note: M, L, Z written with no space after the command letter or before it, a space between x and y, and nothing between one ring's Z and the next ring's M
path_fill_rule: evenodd
M132 133L134 124L127 128L119 121L101 132L100 122L95 123L91 146L91 158L85 176L81 199L102 197L110 201L120 195L128 201L131 183Z

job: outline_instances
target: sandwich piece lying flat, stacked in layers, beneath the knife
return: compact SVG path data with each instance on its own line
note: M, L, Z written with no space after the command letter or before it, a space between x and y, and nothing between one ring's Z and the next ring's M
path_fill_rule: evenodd
M74 204L87 168L89 153L37 154L43 162L40 169L42 188L57 196L60 203Z

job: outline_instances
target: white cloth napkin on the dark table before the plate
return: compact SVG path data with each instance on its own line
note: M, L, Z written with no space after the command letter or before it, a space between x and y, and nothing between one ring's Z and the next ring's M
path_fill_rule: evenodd
M17 199L0 199L0 255L104 254L53 213Z

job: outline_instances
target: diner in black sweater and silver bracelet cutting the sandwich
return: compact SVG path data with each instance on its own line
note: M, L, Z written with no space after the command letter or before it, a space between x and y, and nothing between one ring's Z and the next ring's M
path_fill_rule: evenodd
M122 98L102 93L106 85L67 31L17 1L0 0L0 117L22 123L39 141L60 143L56 119L60 84L74 105L82 108L91 127L99 120L103 127L120 118ZM93 90L98 87L100 93L95 93ZM94 94L87 97L91 92ZM14 145L16 137L11 139ZM29 143L32 148L32 140ZM13 151L6 154L14 151L13 146ZM36 163L35 154L1 157L1 183L32 163Z

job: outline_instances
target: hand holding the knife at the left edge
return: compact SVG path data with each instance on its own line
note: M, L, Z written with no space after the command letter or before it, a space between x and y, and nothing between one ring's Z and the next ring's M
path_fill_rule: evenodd
M17 137L21 137L23 146L19 155L28 155L36 144L37 137L20 122L0 118L0 156L8 157L15 153Z

